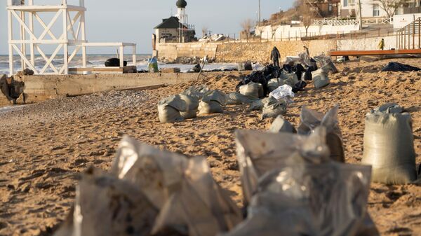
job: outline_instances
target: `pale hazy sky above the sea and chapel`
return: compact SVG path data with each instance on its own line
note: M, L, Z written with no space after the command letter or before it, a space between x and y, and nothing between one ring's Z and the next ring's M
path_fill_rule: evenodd
M36 3L61 0L34 0ZM240 23L255 20L258 0L186 0L189 24L195 25L196 35L202 27L213 34L238 34ZM161 19L177 13L175 0L85 0L86 37L89 42L137 43L138 53L152 53L152 33ZM0 0L0 55L8 54L6 0ZM292 6L292 0L261 0L262 19ZM52 17L52 16L51 16ZM58 26L55 26L58 27ZM41 34L41 33L39 33ZM88 51L88 53L98 53ZM106 52L111 53L111 52Z

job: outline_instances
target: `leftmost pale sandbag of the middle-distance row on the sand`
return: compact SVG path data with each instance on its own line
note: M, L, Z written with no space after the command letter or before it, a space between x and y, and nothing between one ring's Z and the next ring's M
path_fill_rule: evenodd
M187 112L187 104L180 95L162 99L158 103L158 117L161 123L174 123L183 120L181 112Z

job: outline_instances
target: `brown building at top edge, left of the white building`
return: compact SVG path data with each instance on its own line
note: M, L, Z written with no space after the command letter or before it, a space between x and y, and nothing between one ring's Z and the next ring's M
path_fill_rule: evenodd
M339 15L340 0L308 0L306 4L317 18L335 18Z

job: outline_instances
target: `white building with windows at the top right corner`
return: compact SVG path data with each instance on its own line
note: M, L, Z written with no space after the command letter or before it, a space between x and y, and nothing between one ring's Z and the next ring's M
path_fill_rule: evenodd
M389 15L382 9L380 1L361 0L361 17L362 18L387 18ZM420 6L419 0L408 1L398 9L395 14L403 14L404 9ZM340 17L358 17L359 1L358 0L340 0Z

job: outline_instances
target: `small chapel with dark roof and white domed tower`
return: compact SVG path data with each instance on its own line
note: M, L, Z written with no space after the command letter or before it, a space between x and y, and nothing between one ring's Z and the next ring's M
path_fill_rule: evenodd
M176 6L177 15L163 19L161 24L154 28L159 43L196 41L194 26L189 25L189 18L185 11L187 2L178 0Z

